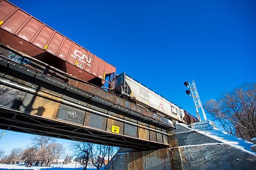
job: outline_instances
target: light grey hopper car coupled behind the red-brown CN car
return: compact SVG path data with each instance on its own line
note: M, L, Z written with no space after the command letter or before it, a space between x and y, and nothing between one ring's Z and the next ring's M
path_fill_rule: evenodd
M127 100L133 100L137 105L163 117L189 124L186 117L190 117L190 115L187 115L188 113L184 112L182 108L127 76L125 72L116 78L115 93Z

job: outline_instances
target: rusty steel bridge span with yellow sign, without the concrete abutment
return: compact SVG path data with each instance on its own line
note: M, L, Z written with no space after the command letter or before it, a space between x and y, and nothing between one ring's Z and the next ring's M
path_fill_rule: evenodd
M164 117L0 47L0 128L136 150L169 148Z

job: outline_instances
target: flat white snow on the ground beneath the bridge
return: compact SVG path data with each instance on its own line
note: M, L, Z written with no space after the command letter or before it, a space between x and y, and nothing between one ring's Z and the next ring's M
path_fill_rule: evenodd
M50 167L44 167L44 166L31 166L31 167L25 167L25 165L10 165L10 164L0 164L0 170L7 170L7 169L13 169L13 170L80 170L82 169L81 166L78 166L75 164L63 164L62 167L62 163L60 164L53 164ZM76 168L75 168L76 167ZM96 170L96 167L88 167L87 170ZM101 168L103 169L103 168Z

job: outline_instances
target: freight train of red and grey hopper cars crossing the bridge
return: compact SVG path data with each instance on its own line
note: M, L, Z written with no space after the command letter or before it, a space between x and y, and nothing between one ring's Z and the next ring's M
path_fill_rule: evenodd
M124 72L116 75L115 66L8 1L0 1L0 43L81 82L105 88L157 115L186 124L198 122L197 118Z

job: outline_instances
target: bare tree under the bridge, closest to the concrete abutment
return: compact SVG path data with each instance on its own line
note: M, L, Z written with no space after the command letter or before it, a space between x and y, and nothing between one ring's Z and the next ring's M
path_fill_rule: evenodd
M107 145L97 144L91 150L90 158L92 160L93 165L100 169L104 164L104 160L106 155L109 153L109 147Z

